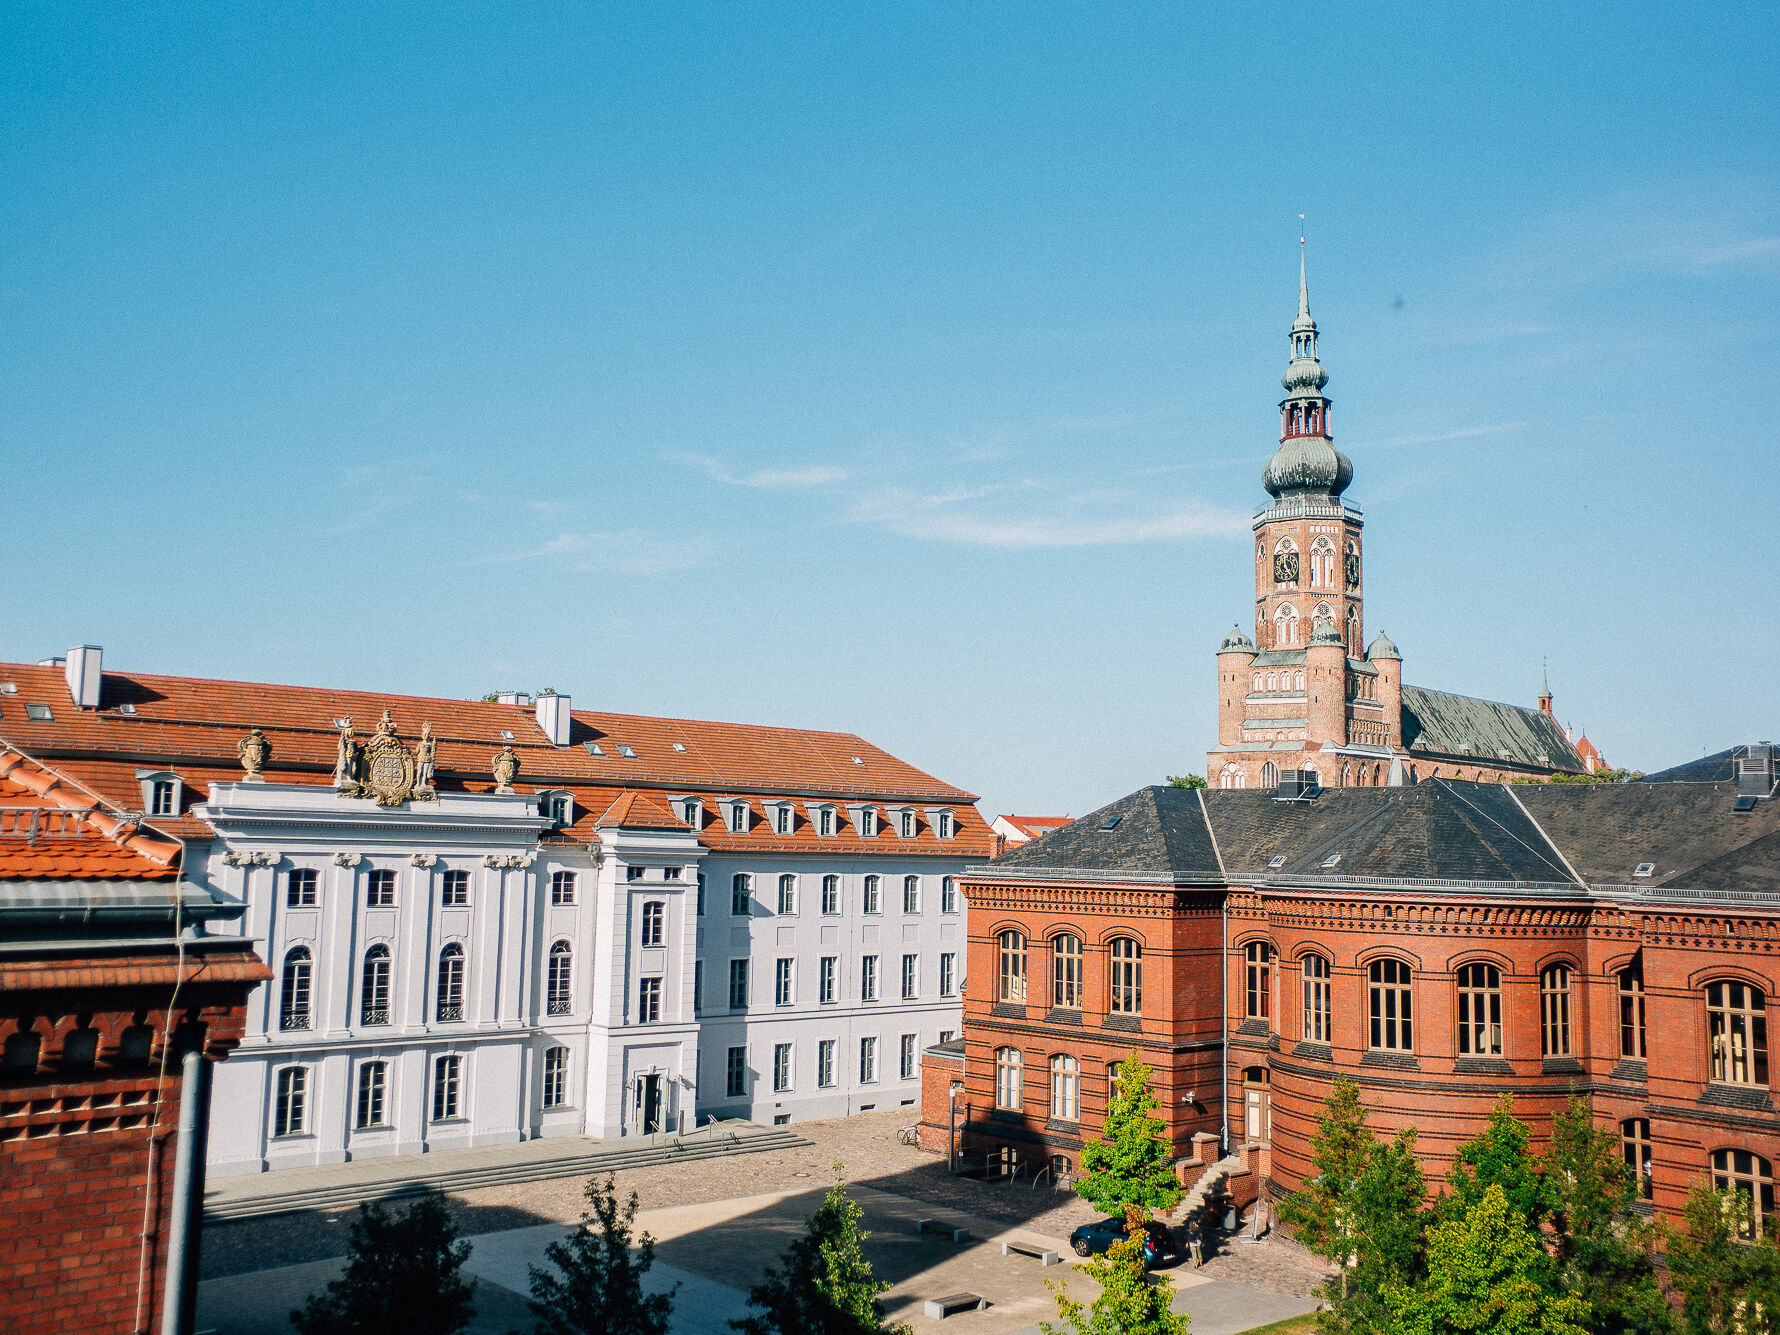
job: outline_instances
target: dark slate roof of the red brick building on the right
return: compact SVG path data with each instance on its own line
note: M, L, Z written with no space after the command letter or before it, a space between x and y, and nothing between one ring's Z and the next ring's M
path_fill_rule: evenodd
M1736 813L1734 783L1529 783L1429 780L1326 789L1139 789L981 869L1024 879L1216 885L1444 881L1525 888L1760 892L1780 895L1780 801ZM1105 824L1120 817L1112 829ZM1333 867L1324 860L1339 853ZM1282 858L1271 867L1273 858ZM1655 863L1648 878L1636 876Z

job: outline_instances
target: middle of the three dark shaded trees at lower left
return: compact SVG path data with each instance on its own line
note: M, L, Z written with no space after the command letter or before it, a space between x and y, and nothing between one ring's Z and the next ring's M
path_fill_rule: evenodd
M532 1315L538 1335L668 1335L675 1285L664 1294L643 1292L643 1276L655 1264L655 1239L643 1234L630 1253L637 1193L619 1203L612 1177L587 1178L580 1223L545 1248L557 1274L532 1266Z

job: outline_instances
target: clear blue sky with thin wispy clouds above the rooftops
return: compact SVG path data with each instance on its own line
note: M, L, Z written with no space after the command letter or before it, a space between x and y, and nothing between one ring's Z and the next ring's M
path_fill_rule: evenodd
M1082 813L1214 740L1303 212L1406 680L1549 657L1645 769L1780 735L1776 28L12 5L0 657L552 685Z

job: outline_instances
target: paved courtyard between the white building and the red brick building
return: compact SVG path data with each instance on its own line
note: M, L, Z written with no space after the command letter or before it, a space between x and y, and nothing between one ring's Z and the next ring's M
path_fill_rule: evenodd
M808 1146L619 1173L619 1191L639 1196L639 1226L657 1239L651 1287L680 1285L676 1335L728 1330L748 1287L803 1230L835 1161L846 1164L851 1194L865 1210L872 1267L892 1283L888 1315L922 1335L942 1328L922 1315L922 1301L942 1294L974 1290L991 1303L943 1324L958 1335L1036 1330L1038 1321L1056 1315L1045 1278L1070 1278L1079 1298L1093 1294L1091 1282L1068 1264L1041 1269L1000 1255L1000 1241L1011 1239L1068 1257L1064 1239L1077 1223L1096 1218L1091 1207L1047 1187L951 1178L942 1159L897 1143L904 1120L906 1112L883 1112L801 1123L796 1130L812 1141ZM529 1330L527 1267L539 1264L543 1250L578 1216L580 1182L481 1187L456 1194L452 1210L475 1242L466 1264L479 1282L472 1330ZM199 1330L288 1331L290 1308L338 1274L349 1218L344 1210L308 1212L208 1226ZM968 1228L972 1241L917 1235L920 1218ZM1169 1278L1178 1289L1175 1307L1193 1315L1194 1335L1234 1335L1310 1310L1308 1290L1321 1269L1301 1248L1267 1239L1234 1242L1203 1269Z

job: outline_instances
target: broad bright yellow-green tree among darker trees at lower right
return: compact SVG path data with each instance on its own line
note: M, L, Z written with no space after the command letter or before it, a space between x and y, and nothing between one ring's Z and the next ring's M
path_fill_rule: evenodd
M1545 1283L1540 1235L1488 1184L1428 1235L1428 1278L1383 1292L1385 1335L1586 1335L1588 1303Z

